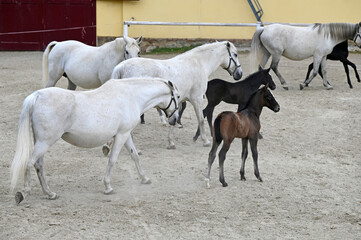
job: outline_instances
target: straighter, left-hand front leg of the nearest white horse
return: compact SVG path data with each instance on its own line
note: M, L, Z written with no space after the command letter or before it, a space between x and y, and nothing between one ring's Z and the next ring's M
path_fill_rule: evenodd
M104 176L104 185L105 185L104 194L110 194L113 191L113 188L110 186L110 172L114 166L114 163L118 159L120 150L122 149L124 143L127 141L129 136L130 136L130 132L126 134L117 134L114 137L113 147L110 152L108 166Z

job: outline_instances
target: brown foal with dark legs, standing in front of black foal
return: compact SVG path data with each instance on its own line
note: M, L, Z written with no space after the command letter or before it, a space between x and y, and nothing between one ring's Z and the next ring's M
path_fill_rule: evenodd
M251 145L254 174L257 179L262 182L262 178L258 170L258 152L257 141L258 134L261 128L259 116L261 115L263 107L266 106L274 112L280 110L280 106L273 97L271 91L268 90L268 84L259 89L249 100L246 108L240 112L226 111L220 113L214 120L213 125L213 144L208 157L208 171L206 175L206 183L209 188L209 180L211 174L211 167L216 158L218 146L223 141L223 146L219 152L219 181L223 187L228 184L224 180L223 163L226 159L226 154L235 138L242 138L242 166L240 170L241 180L246 180L244 177L244 165L248 155L248 141Z

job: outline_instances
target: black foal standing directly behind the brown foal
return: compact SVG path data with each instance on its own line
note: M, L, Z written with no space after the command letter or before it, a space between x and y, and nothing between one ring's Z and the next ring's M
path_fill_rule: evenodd
M206 91L208 104L203 110L203 115L204 118L207 118L211 135L213 111L221 101L231 104L238 104L237 112L239 112L245 108L249 98L258 90L262 84L268 84L271 90L276 89L276 84L269 74L269 71L270 69L260 69L258 72L251 74L243 81L235 83L226 82L221 79L213 79L208 82ZM198 137L199 127L193 137L193 141L197 141Z

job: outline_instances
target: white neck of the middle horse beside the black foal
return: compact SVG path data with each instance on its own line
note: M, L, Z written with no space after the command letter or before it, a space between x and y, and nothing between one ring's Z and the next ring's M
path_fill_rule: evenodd
M223 43L213 43L194 50L193 58L202 66L209 77L225 61Z

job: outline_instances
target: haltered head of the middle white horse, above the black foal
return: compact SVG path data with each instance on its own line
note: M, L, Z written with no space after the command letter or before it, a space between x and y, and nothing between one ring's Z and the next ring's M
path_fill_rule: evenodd
M226 48L228 56L226 62L223 64L223 68L229 75L233 76L234 80L239 80L242 78L242 68L237 58L237 48L231 42L226 42Z

